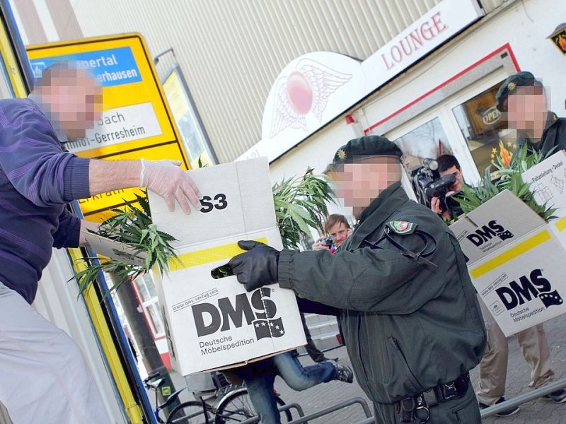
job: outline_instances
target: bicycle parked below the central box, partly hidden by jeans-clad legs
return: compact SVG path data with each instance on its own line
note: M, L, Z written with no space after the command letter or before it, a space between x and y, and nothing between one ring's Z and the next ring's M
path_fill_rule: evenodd
M171 411L166 424L226 424L239 423L257 414L245 386L230 384L220 372L212 372L214 389L195 391L195 401L180 404ZM285 402L275 392L277 404ZM214 403L209 403L214 399ZM293 420L291 411L283 411L287 423ZM214 420L214 421L213 421Z

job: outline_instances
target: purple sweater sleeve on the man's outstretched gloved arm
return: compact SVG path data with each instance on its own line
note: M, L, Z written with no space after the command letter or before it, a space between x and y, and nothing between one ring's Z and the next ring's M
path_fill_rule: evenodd
M13 187L36 206L90 196L88 158L62 151L57 135L31 101L15 113L0 110L0 166Z

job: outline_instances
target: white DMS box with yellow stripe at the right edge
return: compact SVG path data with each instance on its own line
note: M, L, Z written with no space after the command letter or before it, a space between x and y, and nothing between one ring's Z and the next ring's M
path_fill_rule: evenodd
M550 225L504 191L450 226L481 300L506 336L566 312L566 251Z

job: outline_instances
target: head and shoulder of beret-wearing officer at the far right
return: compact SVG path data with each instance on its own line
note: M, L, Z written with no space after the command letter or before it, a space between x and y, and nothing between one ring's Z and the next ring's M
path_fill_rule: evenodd
M531 72L509 76L495 95L497 109L517 130L517 143L529 143L544 155L566 148L566 119L548 110L546 90Z

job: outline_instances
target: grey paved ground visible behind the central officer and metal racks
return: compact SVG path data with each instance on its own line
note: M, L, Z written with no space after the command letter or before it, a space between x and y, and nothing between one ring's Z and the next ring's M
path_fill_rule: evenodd
M550 320L545 324L545 330L550 344L552 366L556 379L566 378L566 314ZM328 358L340 358L341 363L350 364L345 348L337 348L326 353ZM301 363L311 365L308 357L301 357ZM473 384L477 382L477 372L471 373ZM526 365L519 351L516 338L509 338L509 370L507 376L507 399L522 394L529 389L529 366ZM354 381L353 384L342 382L330 382L320 384L306 391L297 392L289 389L287 385L277 377L275 388L287 403L296 402L303 408L306 414L320 411L347 399L360 397L364 399L371 409L367 397L362 389ZM359 404L348 406L328 416L309 421L310 424L354 424L364 420L365 415ZM490 424L531 424L551 423L566 424L566 403L554 404L543 399L536 399L521 405L521 411L508 418L497 418L495 416L485 418L483 423Z

